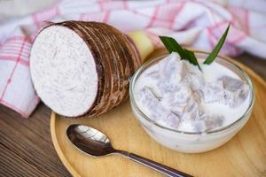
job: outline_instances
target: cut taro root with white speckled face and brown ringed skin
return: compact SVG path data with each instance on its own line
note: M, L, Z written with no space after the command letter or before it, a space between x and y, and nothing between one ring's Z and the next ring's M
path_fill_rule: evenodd
M38 96L66 117L95 116L120 104L140 64L129 38L98 22L52 23L37 35L30 54Z

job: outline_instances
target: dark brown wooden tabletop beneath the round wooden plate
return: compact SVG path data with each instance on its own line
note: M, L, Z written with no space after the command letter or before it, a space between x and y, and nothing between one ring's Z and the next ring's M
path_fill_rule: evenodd
M266 80L266 61L239 56ZM29 119L0 105L0 176L71 176L61 164L50 135L51 110L39 104Z

